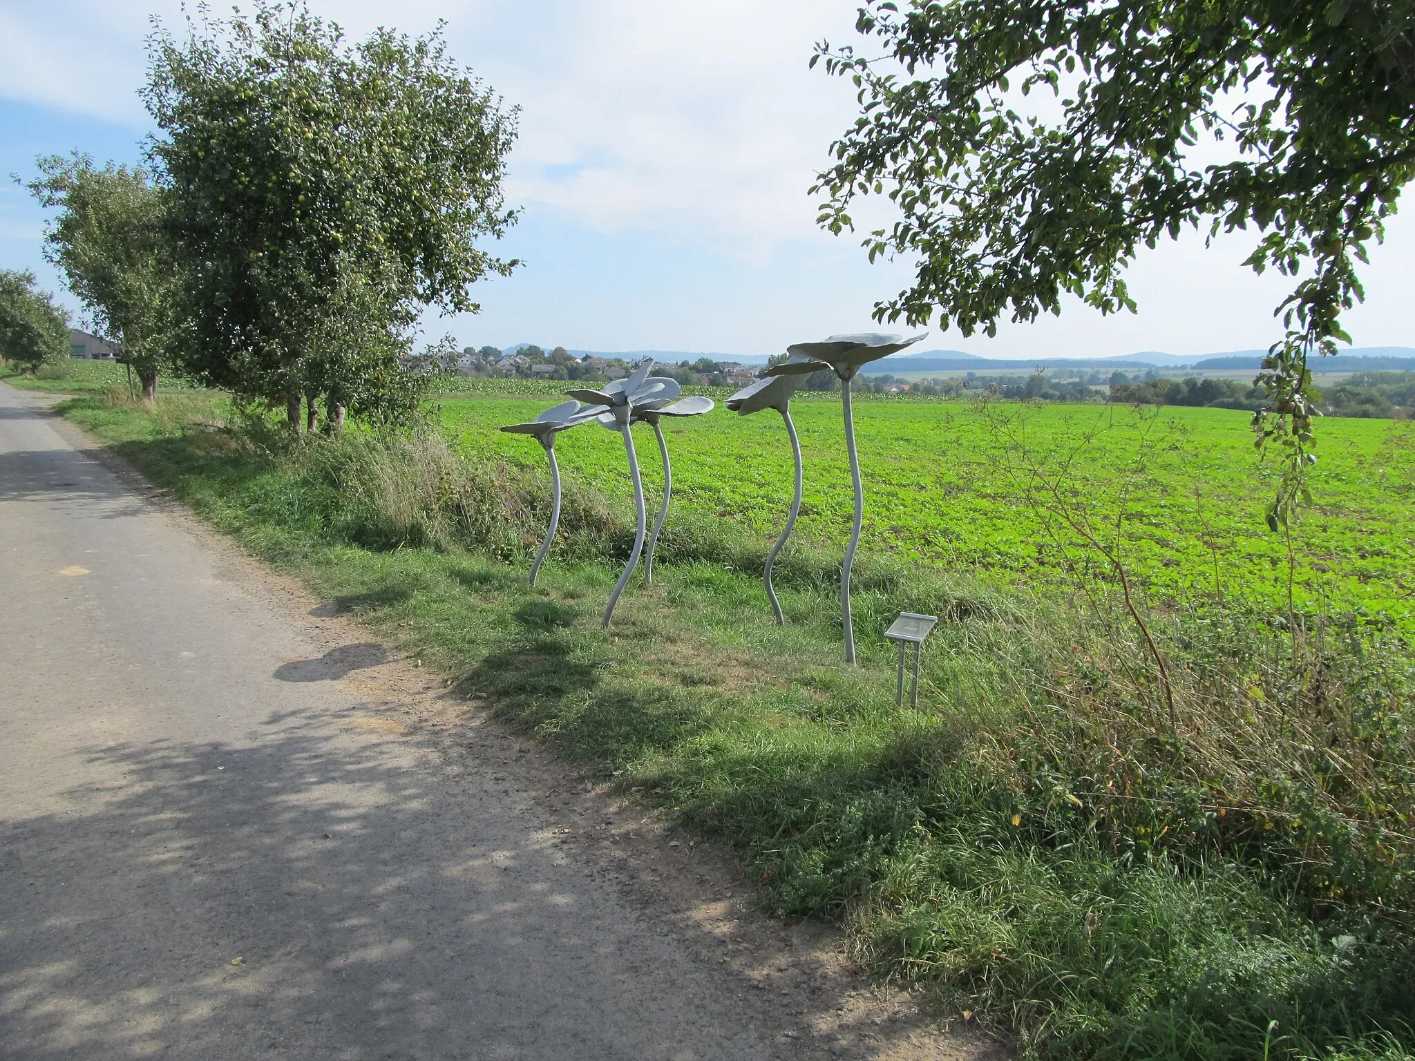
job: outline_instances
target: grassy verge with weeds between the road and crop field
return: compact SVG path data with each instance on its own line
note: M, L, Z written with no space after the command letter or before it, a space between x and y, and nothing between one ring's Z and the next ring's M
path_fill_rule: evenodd
M841 665L835 557L676 521L611 634L627 550L573 491L525 586L545 485L433 436L296 447L209 400L61 412L454 688L726 839L784 917L849 928L1037 1057L1409 1058L1409 645L1358 617L1302 638L1214 605L1156 615L1177 709L1105 586L1033 597L867 557L857 630L944 617L923 702L889 648Z

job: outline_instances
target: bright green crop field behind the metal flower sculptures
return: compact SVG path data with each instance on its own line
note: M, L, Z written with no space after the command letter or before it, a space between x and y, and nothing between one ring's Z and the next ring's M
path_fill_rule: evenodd
M497 427L532 417L560 386L446 395L440 417L468 453L543 468L533 441ZM852 504L839 400L804 399L792 405L805 461L797 535L843 549ZM1070 516L1162 598L1286 600L1288 540L1264 522L1275 472L1258 458L1247 413L865 398L855 420L862 550L1003 581L1063 581L1068 562L1098 562ZM739 417L719 407L665 422L665 433L675 511L717 515L763 536L780 529L791 453L775 413ZM652 504L662 474L647 427L635 429L635 446ZM1319 450L1313 506L1290 542L1295 603L1415 625L1415 424L1323 420ZM556 454L567 482L591 485L630 518L616 433L594 424L567 431Z

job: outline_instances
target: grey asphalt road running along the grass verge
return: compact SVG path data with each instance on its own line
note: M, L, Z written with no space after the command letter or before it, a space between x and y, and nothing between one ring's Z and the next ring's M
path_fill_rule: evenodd
M392 738L381 647L34 405L0 385L0 1057L777 1055L543 806Z

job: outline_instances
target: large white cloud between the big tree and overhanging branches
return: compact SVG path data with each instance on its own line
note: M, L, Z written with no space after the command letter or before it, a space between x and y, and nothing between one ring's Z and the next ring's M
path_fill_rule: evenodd
M599 231L708 235L751 260L812 236L805 191L850 98L807 61L852 14L808 0L614 0L593 23L567 20L548 48L556 76L516 91L526 133L512 190Z

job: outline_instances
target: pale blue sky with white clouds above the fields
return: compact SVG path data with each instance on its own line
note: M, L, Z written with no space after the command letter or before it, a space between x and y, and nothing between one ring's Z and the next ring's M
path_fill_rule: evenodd
M225 4L215 6L224 13ZM351 37L419 34L446 21L451 54L521 108L505 184L521 222L497 253L525 262L478 283L477 315L424 320L460 345L775 354L877 325L876 301L908 286L908 260L870 265L859 239L815 225L807 191L856 115L853 89L807 64L855 40L849 0L311 0ZM79 149L139 161L151 132L137 89L151 18L171 0L0 0L0 177ZM870 219L890 218L887 202ZM859 212L856 211L856 216ZM62 283L41 255L44 214L0 184L0 267ZM1143 252L1128 282L1138 314L1003 323L996 338L931 330L921 348L998 358L1200 355L1281 337L1290 282L1241 267L1251 235L1196 235ZM1358 347L1415 347L1408 313L1415 209L1388 226L1347 314ZM72 297L61 301L76 308Z

